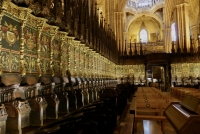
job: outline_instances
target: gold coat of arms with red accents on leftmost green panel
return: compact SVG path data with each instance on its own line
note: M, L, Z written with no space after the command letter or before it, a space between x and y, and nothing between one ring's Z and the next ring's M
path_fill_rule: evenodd
M19 40L19 33L17 31L17 25L8 24L6 21L1 27L3 38L9 43L9 46L15 44Z

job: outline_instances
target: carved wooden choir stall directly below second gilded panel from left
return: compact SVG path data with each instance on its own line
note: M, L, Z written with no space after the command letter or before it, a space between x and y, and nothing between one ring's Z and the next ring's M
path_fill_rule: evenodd
M38 77L36 75L25 75L20 84L20 89L24 91L25 98L31 107L30 125L42 126L46 119L47 102L44 97L38 96Z

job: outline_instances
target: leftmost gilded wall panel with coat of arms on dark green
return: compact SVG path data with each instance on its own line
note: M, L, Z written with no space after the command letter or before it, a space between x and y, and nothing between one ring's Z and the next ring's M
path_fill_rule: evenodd
M2 71L20 72L20 22L6 15L1 20Z

